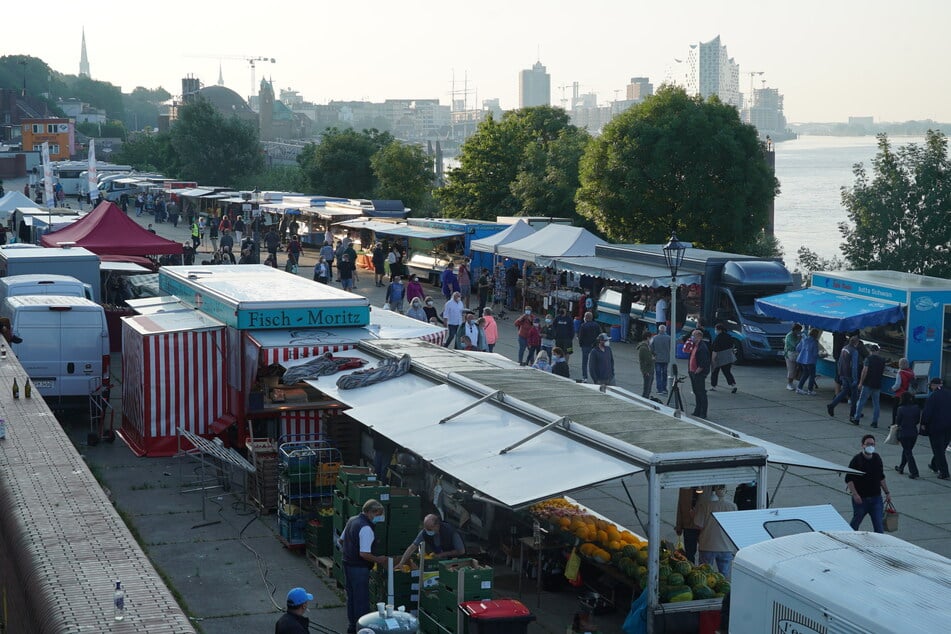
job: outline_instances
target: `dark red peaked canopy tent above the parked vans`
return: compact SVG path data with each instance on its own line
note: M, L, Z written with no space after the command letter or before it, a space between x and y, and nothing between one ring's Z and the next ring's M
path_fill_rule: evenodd
M143 229L115 203L103 201L86 216L40 238L44 247L73 242L99 255L179 254L182 245Z

